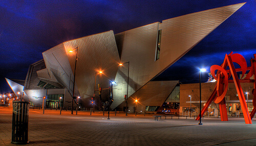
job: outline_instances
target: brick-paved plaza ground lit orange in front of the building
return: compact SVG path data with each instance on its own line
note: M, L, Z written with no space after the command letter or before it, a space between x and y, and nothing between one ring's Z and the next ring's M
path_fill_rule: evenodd
M155 121L152 114L128 115L89 111L29 111L27 145L256 145L256 120L171 117ZM0 145L11 143L12 109L0 107Z

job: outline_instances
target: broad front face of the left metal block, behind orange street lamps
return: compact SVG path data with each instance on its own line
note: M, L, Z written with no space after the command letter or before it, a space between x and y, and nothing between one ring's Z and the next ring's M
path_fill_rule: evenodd
M76 50L69 53L72 48L78 47L78 60L76 64L76 85L82 97L83 105L91 105L94 94L95 74L96 89L98 84L102 89L109 88L110 81L114 81L120 62L116 40L113 31L90 35L63 43L67 56L74 72ZM102 74L99 74L102 71ZM108 100L108 90L101 92L103 101ZM98 94L96 99L98 99Z

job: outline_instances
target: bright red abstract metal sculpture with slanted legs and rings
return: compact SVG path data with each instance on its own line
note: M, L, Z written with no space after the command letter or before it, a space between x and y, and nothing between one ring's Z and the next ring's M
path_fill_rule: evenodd
M209 99L205 103L205 106L202 109L202 112L201 112L202 115L207 111L208 107L210 106L210 103L214 101L215 103L219 103L221 120L222 121L228 120L226 101L224 97L227 93L228 82L234 82L234 85L236 86L236 89L237 89L239 101L241 103L241 108L244 114L245 123L251 124L251 119L256 113L256 90L255 90L256 54L254 54L254 58L251 58L250 61L251 61L251 67L247 67L246 60L242 55L233 54L233 52L231 52L230 54L225 55L225 59L221 66L218 66L218 65L211 66L210 72L212 76L217 80L217 84L215 86L214 91L212 92ZM236 62L240 66L240 68L235 69L233 62ZM229 67L229 70L227 70L227 67ZM215 73L216 70L217 70L217 74ZM247 70L249 70L249 72L246 75L246 77L244 79L239 79L237 72L242 71L242 77L243 77ZM254 75L253 79L250 79L250 77L252 77L253 75ZM231 76L232 76L232 79L229 79ZM246 105L244 93L240 85L240 82L254 82L254 88L252 90L253 110L250 115L249 115L249 111ZM199 118L200 116L198 115L196 120L199 120Z

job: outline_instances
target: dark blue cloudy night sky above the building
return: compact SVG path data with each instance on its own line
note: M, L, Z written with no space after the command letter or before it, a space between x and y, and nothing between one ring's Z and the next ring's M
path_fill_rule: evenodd
M10 1L0 2L0 93L5 77L24 79L42 52L63 41L113 30L123 32L189 13L247 2L156 80L199 82L198 68L221 65L231 51L256 54L256 1ZM207 73L202 81L207 80Z

